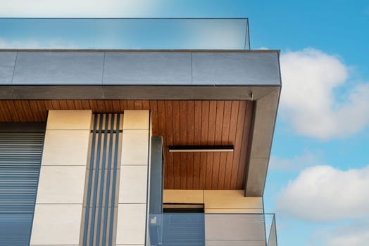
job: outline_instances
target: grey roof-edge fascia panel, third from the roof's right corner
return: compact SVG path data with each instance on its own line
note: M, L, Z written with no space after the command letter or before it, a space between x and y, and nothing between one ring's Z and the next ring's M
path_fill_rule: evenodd
M18 52L13 84L101 84L103 52Z

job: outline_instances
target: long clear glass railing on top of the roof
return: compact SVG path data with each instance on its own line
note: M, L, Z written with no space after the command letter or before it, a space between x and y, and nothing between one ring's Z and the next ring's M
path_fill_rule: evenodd
M0 18L6 49L249 49L246 18Z

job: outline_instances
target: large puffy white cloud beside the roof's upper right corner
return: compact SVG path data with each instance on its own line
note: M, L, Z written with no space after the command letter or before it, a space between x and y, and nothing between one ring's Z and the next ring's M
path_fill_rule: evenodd
M282 119L298 134L319 139L349 136L369 122L369 83L344 91L349 68L339 58L313 48L282 54Z

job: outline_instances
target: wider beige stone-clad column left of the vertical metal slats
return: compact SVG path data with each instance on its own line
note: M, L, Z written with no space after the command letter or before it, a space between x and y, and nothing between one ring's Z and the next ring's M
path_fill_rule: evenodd
M91 110L50 110L30 245L78 245Z

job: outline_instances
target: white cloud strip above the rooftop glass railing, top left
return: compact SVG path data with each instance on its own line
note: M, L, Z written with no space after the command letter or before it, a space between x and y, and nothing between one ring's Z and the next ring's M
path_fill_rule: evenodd
M3 17L144 17L158 0L0 0Z

